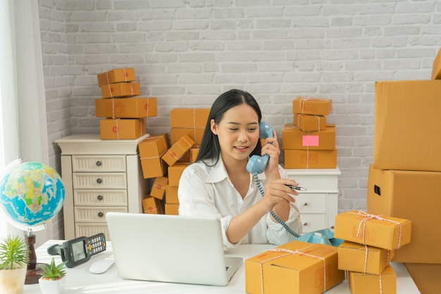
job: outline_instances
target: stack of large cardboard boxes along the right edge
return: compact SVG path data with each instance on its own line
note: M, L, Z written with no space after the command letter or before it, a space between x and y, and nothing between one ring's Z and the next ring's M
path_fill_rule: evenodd
M412 242L396 250L423 294L441 288L441 50L432 80L375 83L368 212L412 221Z

